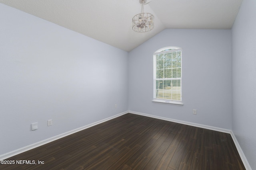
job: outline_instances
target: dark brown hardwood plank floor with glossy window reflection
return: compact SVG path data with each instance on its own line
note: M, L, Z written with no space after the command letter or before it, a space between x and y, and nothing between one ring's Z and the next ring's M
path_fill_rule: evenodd
M230 134L131 113L6 160L36 164L1 170L245 170Z

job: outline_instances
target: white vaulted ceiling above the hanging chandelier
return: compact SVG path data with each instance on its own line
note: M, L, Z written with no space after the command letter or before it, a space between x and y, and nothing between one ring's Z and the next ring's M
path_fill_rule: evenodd
M150 2L151 1L151 2ZM166 28L231 29L242 0L148 0L144 12L155 16L147 33L132 30L139 0L0 0L124 51L131 51Z

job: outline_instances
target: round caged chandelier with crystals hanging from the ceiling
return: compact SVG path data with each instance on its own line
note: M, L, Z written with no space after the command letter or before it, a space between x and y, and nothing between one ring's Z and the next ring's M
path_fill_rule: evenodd
M136 32L148 32L154 28L154 16L150 13L144 13L144 4L147 0L140 0L141 13L132 18L132 29Z

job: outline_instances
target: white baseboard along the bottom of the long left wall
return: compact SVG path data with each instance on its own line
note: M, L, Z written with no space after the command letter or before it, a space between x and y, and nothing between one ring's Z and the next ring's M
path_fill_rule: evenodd
M42 145L44 145L44 144L46 144L46 143L50 143L50 142L55 141L55 140L57 140L57 139L60 139L60 138L62 138L62 137L66 137L66 136L71 135L71 134L73 134L73 133L82 131L82 130L84 130L84 129L87 129L87 128L92 127L92 126L95 126L95 125L98 125L98 124L100 124L100 123L103 123L103 122L105 122L105 121L114 119L114 118L119 117L119 116L121 116L121 115L124 115L124 114L126 114L126 113L128 113L128 111L125 111L125 112L123 112L123 113L119 113L119 114L117 114L117 115L108 117L108 118L106 118L106 119L102 119L102 120L100 120L100 121L96 121L96 122L94 122L94 123L91 123L91 124L89 124L89 125L85 125L85 126L83 126L83 127L79 127L79 128L77 128L77 129L74 129L74 130L71 130L71 131L62 133L62 134L60 134L60 135L56 135L56 136L54 136L54 137L45 139L45 140L43 140L43 141L39 141L39 142L37 142L37 143L33 143L33 144L28 145L28 146L26 146L26 147L22 147L22 148L13 150L13 151L11 151L11 152L7 152L7 153L5 153L5 154L0 155L0 160L4 160L4 159L10 158L10 157L12 157L12 156L15 156L15 155L17 155L17 154L20 154L20 153L22 153L22 152L26 152L26 151L28 151L28 150L30 150L30 149L34 149L34 148L36 148L36 147L40 147L40 146L42 146Z

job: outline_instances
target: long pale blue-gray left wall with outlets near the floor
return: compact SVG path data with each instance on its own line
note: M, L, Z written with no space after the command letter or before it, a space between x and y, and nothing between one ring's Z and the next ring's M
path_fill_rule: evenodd
M0 154L127 111L127 57L0 4Z

